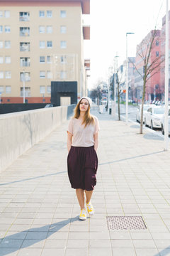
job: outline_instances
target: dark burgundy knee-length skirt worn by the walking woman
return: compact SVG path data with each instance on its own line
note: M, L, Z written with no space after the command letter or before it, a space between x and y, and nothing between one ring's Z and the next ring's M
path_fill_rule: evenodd
M94 190L98 156L94 146L71 146L67 156L67 169L72 188Z

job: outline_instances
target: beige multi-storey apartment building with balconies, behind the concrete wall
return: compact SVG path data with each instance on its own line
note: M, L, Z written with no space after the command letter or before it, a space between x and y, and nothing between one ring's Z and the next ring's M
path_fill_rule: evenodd
M51 81L77 81L86 95L89 13L90 0L0 0L1 103L50 103Z

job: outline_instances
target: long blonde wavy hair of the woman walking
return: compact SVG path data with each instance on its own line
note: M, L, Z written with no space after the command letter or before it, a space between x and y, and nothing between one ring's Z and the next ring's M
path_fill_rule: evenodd
M74 108L74 117L73 118L78 119L80 116L80 109L79 109L80 103L81 103L81 100L79 101L77 106ZM87 109L86 113L84 114L84 119L83 119L82 124L85 124L84 127L86 127L89 124L95 125L94 117L90 114L90 106L89 105L88 105L88 109Z

